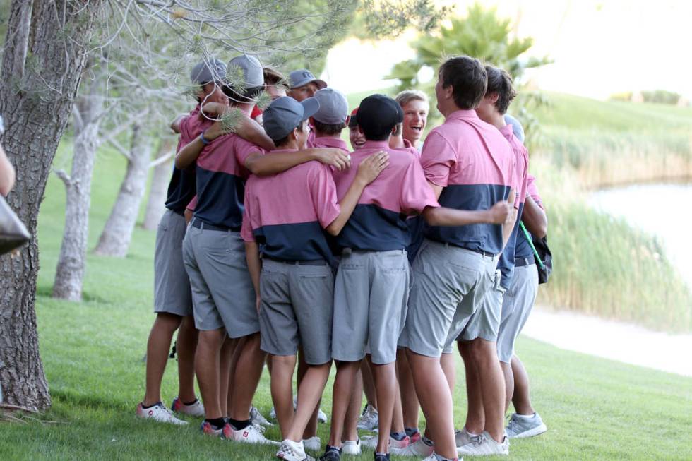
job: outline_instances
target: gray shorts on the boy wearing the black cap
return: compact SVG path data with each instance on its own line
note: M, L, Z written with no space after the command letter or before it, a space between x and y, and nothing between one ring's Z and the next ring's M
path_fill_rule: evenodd
M396 360L406 318L409 263L405 250L345 251L334 287L332 357L374 364Z

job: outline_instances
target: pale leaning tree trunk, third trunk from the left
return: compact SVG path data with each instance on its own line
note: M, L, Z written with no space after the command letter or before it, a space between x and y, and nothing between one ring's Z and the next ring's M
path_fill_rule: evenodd
M118 198L115 200L115 205L94 250L97 255L120 258L126 256L139 214L139 205L147 186L150 156L150 145L147 143L146 133L142 132L141 123L137 121L132 126L131 148L125 179L120 185Z

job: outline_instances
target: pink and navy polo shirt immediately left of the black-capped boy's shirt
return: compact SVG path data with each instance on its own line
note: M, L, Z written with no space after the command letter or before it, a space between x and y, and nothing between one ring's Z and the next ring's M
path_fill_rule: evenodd
M306 162L273 176L250 177L240 234L244 241L258 242L269 258L330 261L332 253L323 229L339 212L330 168Z

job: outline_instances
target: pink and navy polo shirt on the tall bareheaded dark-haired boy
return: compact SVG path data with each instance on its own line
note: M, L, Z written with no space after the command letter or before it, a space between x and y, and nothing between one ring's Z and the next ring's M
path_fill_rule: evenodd
M474 110L458 110L434 128L423 145L425 176L443 187L440 205L456 210L487 210L506 200L515 179L515 155L494 126ZM437 227L426 224L425 237L473 251L499 254L501 224Z

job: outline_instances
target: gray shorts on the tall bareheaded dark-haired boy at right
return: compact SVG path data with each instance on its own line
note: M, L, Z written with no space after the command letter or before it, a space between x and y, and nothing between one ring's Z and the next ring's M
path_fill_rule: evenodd
M494 282L497 256L426 239L413 263L413 287L400 345L428 357L450 351Z

